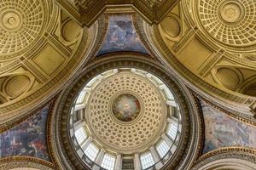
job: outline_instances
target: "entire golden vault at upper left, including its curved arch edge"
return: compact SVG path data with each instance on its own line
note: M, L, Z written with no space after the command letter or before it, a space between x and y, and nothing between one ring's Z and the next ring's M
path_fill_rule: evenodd
M90 53L97 25L82 29L50 0L3 0L0 9L0 114L5 115L0 121L5 122L39 107L46 102L39 100L43 95L47 99L67 82Z

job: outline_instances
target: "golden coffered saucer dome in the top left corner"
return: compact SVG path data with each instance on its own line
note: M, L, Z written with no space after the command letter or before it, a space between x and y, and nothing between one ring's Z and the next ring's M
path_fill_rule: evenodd
M17 55L42 36L47 24L46 1L11 1L0 3L0 54Z

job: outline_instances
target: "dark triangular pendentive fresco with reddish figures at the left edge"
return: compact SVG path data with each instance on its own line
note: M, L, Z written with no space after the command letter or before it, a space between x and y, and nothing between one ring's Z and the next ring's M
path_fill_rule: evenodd
M49 161L46 124L49 105L25 122L0 134L0 157L33 156Z

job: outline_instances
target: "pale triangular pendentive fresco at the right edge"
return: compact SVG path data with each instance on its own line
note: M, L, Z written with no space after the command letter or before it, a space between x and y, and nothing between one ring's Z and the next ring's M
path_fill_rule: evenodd
M205 121L204 153L229 146L256 149L256 127L236 121L204 101L201 106Z

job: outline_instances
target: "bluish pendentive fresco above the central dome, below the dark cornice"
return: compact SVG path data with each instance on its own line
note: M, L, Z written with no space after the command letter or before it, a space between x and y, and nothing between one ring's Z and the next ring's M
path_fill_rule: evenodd
M130 14L111 15L108 20L107 36L97 56L119 51L148 54L137 36Z

